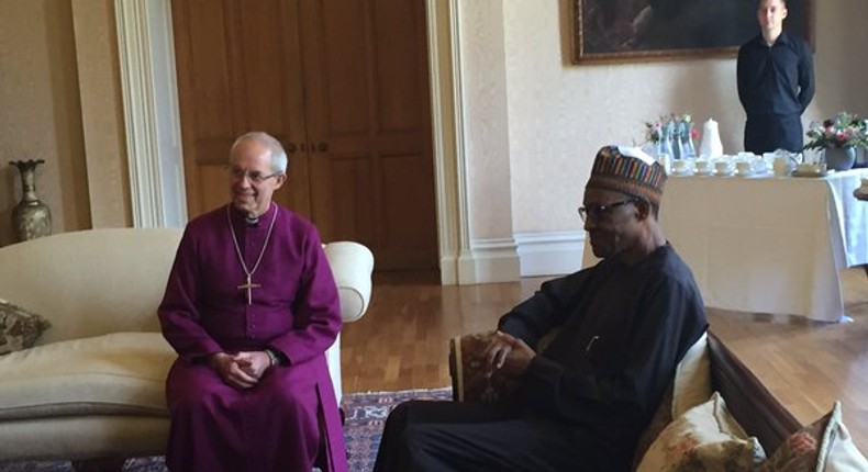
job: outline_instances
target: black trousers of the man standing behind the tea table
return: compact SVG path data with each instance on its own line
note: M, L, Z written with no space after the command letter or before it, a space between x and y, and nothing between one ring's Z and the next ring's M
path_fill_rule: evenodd
M777 149L801 153L804 145L801 115L748 115L745 150L761 155Z

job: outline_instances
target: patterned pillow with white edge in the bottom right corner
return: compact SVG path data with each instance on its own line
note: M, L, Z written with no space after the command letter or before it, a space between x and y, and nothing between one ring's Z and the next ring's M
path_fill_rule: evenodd
M868 470L868 460L853 442L842 423L841 402L809 426L793 432L763 463L760 472L857 472Z

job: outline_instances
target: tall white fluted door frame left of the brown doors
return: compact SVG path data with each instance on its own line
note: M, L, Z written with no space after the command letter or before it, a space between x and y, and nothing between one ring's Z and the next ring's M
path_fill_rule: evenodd
M187 221L169 0L115 0L135 227Z

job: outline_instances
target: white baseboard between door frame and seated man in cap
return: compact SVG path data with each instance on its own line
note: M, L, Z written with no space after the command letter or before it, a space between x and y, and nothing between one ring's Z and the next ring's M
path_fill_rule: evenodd
M581 269L586 233L523 233L515 235L521 277L563 276Z

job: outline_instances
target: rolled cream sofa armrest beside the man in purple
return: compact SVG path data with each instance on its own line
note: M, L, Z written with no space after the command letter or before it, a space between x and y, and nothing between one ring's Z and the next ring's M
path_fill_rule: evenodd
M344 323L356 322L365 315L370 302L374 255L353 241L330 243L323 250L341 297L341 317Z

